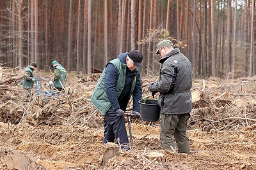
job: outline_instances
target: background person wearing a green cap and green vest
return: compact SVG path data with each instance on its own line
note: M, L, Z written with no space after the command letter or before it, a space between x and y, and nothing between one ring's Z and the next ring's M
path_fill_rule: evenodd
M57 60L52 61L52 67L54 67L53 82L49 81L49 85L53 85L54 88L62 92L65 90L65 83L67 80L66 69L61 66Z

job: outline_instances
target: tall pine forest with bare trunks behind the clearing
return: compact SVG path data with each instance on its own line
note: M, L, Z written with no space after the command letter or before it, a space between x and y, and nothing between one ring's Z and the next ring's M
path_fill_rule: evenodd
M156 45L170 39L193 77L255 75L254 0L1 0L1 66L39 69L59 60L92 74L119 53L143 53L141 74L157 74Z

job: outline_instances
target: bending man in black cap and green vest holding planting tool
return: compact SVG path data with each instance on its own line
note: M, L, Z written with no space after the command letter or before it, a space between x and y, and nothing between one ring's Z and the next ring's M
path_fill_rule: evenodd
M121 53L118 59L108 62L100 76L91 102L104 115L103 143L115 142L129 149L124 113L132 96L132 113L134 118L140 118L142 59L139 50Z

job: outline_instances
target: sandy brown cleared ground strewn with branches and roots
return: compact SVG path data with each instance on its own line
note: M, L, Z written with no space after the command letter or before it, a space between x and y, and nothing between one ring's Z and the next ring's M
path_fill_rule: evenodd
M1 85L0 169L256 169L255 78L193 82L191 155L161 148L159 121L132 120L133 150L118 149L107 159L103 118L88 100L97 78L70 78L67 93L30 101L19 82ZM147 85L153 80L143 79L143 97L150 98ZM47 89L47 81L40 87ZM148 160L148 152L163 153L165 161Z

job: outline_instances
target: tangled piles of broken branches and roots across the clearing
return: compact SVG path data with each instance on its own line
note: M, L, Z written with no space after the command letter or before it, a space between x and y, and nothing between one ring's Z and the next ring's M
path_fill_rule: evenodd
M40 76L40 96L33 89L32 95L22 89L23 73L17 69L1 68L0 122L29 125L82 125L100 127L103 117L90 103L90 97L99 80L100 73L92 76L77 76L76 81L67 85L65 93L54 93L47 86L49 76ZM156 81L156 76L142 78L143 98L157 99L147 90L148 84ZM193 110L188 129L201 131L225 130L239 124L240 128L255 123L256 109L252 100L255 78L225 80L219 78L194 80L191 88ZM246 94L246 95L241 95ZM127 106L132 111L132 100ZM233 122L237 120L236 122ZM157 122L131 120L135 123L159 127Z

